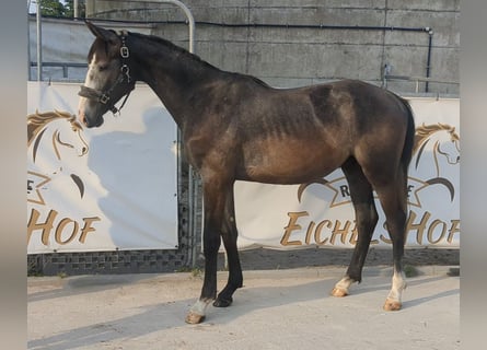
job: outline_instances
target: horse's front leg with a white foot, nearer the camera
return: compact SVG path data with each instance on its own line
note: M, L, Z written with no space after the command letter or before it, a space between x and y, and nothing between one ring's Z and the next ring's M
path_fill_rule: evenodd
M199 324L205 319L206 308L217 298L217 262L220 248L220 232L222 228L225 191L218 182L205 182L204 203L205 218L202 231L202 244L205 255L205 279L199 300L189 310L186 323Z

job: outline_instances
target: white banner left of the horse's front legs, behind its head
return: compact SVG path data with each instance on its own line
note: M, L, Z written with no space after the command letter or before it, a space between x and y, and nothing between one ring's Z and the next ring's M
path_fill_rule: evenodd
M27 253L177 248L176 126L138 85L83 129L79 84L28 83Z

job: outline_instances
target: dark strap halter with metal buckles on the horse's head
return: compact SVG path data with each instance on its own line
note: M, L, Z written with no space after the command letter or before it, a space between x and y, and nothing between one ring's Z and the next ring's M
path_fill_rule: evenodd
M88 88L84 85L81 85L81 91L78 93L78 95L82 97L86 97L89 100L94 100L96 102L100 102L101 104L108 105L108 109L116 115L117 113L120 114L120 109L124 107L125 103L127 102L128 96L130 95L130 92L134 90L135 86L132 86L127 94L125 94L125 98L121 102L121 105L119 108L115 107L115 102L112 103L111 101L111 94L114 91L114 89L121 84L125 80L127 80L127 83L130 83L130 68L127 65L127 60L130 56L127 45L125 44L125 39L127 37L127 32L121 32L121 35L119 36L121 39L121 46L120 46L120 57L121 57L121 67L120 72L118 73L117 80L113 83L113 85L105 90L100 91L92 88ZM109 103L109 104L108 104Z

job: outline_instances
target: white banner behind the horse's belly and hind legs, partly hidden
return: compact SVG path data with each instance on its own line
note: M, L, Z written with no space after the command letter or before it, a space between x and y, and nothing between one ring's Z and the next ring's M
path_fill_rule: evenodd
M406 246L460 247L460 101L409 98L416 137L408 178ZM392 242L380 214L371 246ZM276 186L235 185L239 247L277 249L310 246L353 247L353 208L345 175Z

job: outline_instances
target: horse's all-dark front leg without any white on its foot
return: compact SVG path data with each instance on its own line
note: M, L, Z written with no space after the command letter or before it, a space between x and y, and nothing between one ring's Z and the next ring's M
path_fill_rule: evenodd
M237 231L235 223L233 190L230 190L229 195L227 196L221 235L227 250L229 280L223 290L218 294L213 306L227 307L233 302L233 292L237 288L241 288L243 283L242 267L240 265L239 250L236 248Z

